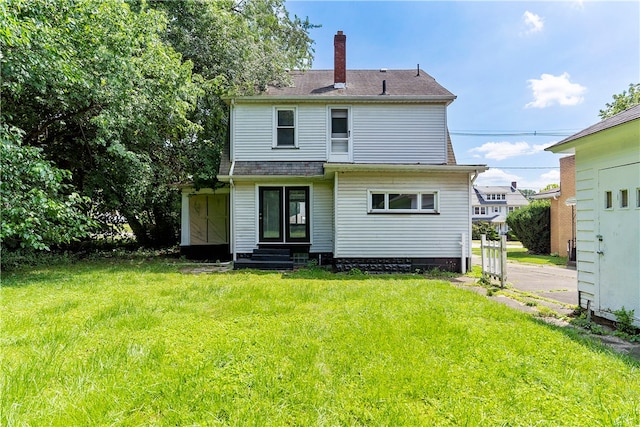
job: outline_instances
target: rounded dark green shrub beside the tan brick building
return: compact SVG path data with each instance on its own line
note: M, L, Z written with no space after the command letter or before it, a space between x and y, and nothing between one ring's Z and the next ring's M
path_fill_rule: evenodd
M551 251L551 202L534 200L528 206L510 212L507 225L532 254Z

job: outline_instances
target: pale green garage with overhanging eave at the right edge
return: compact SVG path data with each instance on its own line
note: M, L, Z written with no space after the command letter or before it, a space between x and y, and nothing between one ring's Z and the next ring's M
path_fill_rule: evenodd
M580 306L640 325L640 105L546 150L575 154Z

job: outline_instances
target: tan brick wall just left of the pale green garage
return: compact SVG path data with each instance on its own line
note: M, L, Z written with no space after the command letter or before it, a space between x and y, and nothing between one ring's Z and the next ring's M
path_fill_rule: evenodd
M566 201L576 196L575 156L560 159L560 197L551 199L551 253L567 256L567 241L575 237L575 206Z

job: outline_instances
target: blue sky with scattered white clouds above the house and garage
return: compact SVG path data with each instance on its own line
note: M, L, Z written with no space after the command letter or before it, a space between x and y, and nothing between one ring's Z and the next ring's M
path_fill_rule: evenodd
M559 183L562 155L544 148L599 122L614 94L640 83L640 0L287 0L286 8L321 26L310 30L312 69L333 69L341 30L347 70L419 64L456 95L447 120L457 162L489 166L476 185Z

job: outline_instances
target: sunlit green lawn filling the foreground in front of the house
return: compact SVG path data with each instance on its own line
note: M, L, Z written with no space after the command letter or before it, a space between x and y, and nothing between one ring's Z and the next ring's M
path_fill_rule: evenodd
M5 274L2 426L640 424L638 364L445 281Z

